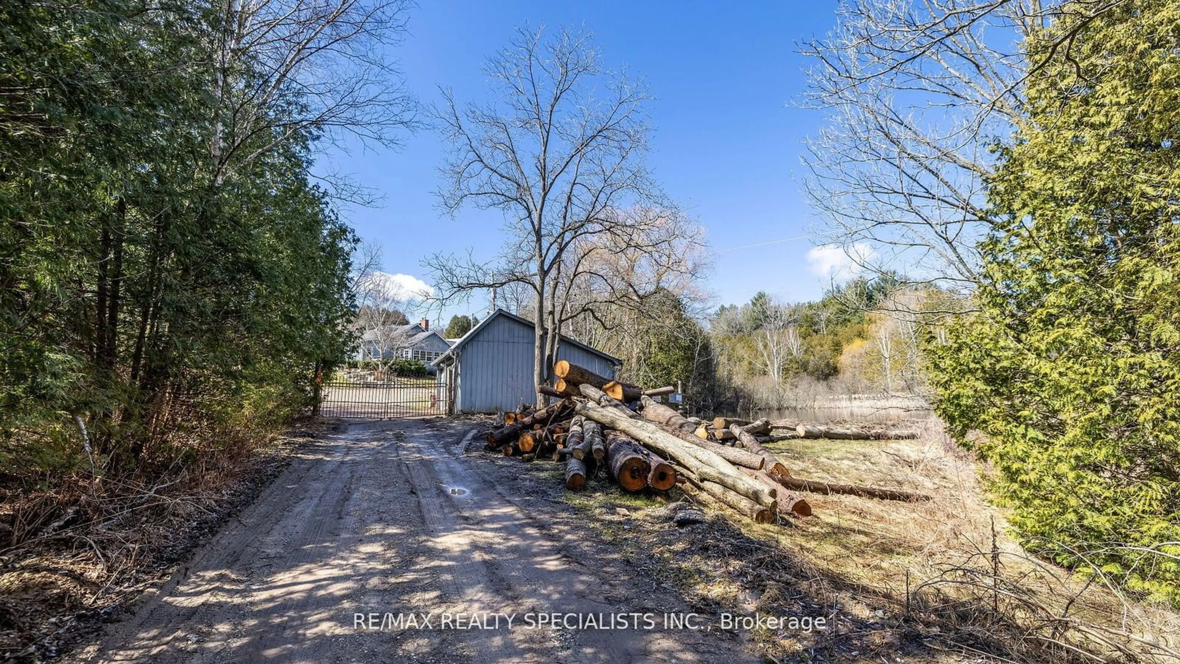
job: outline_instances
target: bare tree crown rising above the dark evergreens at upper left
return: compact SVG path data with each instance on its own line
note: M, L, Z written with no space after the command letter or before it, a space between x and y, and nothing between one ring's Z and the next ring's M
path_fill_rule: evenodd
M209 150L218 182L309 131L394 145L394 130L415 125L414 100L389 56L407 0L222 2L210 37L221 113Z

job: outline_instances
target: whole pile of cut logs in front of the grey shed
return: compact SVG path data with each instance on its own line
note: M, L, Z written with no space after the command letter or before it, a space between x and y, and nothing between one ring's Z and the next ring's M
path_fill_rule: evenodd
M926 499L910 492L795 477L763 447L795 437L917 437L910 431L886 434L725 417L701 422L656 401L674 388L643 390L565 360L553 366L553 385L543 385L540 391L557 401L532 411L504 414L503 427L487 432L485 449L525 461L563 462L569 490L584 489L586 477L602 473L629 492L678 487L706 507L736 512L759 523L778 522L780 516L811 516L812 508L800 492Z

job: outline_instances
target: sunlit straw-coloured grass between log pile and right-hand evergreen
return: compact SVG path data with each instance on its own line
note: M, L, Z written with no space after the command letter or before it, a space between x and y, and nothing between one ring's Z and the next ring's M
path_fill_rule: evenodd
M976 464L931 421L917 441L787 441L799 476L919 490L929 502L812 496L817 517L784 546L817 573L891 603L899 621L1017 662L1180 662L1180 617L1101 574L1030 556L1005 535Z

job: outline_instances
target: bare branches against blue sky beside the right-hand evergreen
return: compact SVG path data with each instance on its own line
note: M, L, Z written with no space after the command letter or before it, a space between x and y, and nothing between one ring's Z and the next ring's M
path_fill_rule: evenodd
M809 102L828 113L804 160L820 234L868 271L970 289L992 223L990 149L1021 122L1022 83L1040 66L1020 44L1050 19L1080 26L1121 1L843 5L834 31L804 47ZM1056 46L1068 51L1075 32Z

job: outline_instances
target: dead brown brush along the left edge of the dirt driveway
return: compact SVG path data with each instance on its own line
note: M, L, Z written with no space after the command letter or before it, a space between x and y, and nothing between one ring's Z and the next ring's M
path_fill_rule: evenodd
M248 504L297 441L203 456L156 482L76 474L0 493L0 662L53 658L118 617Z

